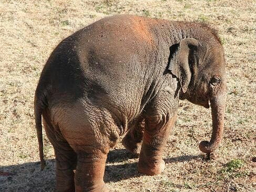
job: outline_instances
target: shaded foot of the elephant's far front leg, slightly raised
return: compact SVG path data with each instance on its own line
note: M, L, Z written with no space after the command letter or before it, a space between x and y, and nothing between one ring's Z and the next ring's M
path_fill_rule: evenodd
M126 148L127 151L132 153L135 157L137 157L137 158L139 157L142 142L135 142L131 138L131 135L129 134L124 137L124 139L122 140L122 144Z

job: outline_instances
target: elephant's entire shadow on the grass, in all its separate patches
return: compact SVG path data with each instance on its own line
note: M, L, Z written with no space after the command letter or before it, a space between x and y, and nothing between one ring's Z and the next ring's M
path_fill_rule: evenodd
M137 163L123 163L127 159L135 158L125 149L110 151L105 170L105 182L118 182L132 177L140 177L137 171ZM201 159L199 156L179 156L165 158L165 162L185 162L193 159ZM55 191L55 159L46 161L46 167L40 171L40 162L24 163L0 167L0 191Z

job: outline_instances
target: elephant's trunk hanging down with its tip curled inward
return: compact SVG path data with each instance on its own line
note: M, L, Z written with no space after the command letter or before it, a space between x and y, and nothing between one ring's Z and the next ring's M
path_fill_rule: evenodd
M211 154L219 145L224 126L226 94L219 95L210 100L212 110L212 137L210 142L202 141L199 144L199 149Z

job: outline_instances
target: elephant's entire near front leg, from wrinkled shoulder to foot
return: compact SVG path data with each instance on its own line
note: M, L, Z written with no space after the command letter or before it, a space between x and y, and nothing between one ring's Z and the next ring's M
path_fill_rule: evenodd
M172 95L170 89L159 91L143 110L145 131L138 163L141 173L156 175L164 170L163 150L177 118L178 99Z

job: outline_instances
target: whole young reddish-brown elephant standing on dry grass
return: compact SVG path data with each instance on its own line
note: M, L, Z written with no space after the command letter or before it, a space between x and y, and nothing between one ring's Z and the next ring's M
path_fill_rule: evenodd
M78 30L51 53L36 88L41 169L43 122L57 191L108 191L107 154L124 134L123 145L139 157L138 171L160 174L184 99L211 107L211 140L199 149L213 153L223 133L225 62L217 32L203 23L114 15Z

